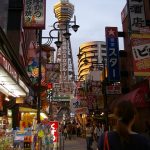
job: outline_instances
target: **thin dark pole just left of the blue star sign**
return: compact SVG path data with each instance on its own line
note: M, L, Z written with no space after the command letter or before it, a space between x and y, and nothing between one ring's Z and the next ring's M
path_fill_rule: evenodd
M107 106L107 93L106 93L106 65L105 60L103 57L102 60L103 67L104 67L104 80L103 80L103 95L104 95L104 114L105 114L105 121L106 121L106 129L108 129L108 106Z

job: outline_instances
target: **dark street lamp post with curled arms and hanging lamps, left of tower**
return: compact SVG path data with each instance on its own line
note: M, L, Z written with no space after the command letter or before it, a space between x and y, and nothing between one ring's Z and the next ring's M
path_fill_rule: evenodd
M62 23L65 25L64 29L59 28L59 24ZM73 25L71 26L71 24ZM69 28L72 28L75 32L77 32L79 25L76 24L76 17L74 16L73 21L58 21L53 24L53 29L49 32L48 37L42 37L42 30L38 31L38 43L39 43L39 75L38 75L38 91L37 91L37 122L40 123L40 110L41 110L41 51L42 51L42 39L48 39L47 44L51 45L53 39L57 39L54 43L56 44L57 48L60 48L62 41L60 41L60 31L65 31L63 34L66 40L69 40L71 33L69 33ZM52 32L57 31L57 36L52 36ZM49 98L49 114L52 115L52 99Z

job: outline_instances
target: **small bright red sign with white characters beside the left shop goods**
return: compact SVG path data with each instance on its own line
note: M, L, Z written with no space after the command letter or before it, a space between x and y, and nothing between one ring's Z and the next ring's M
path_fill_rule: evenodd
M53 142L58 142L58 130L59 130L58 121L50 121L50 129L51 134L53 135Z

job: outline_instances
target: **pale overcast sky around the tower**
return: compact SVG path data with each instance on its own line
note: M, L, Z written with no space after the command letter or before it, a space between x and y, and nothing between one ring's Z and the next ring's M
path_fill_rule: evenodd
M54 4L59 0L46 0L46 29L44 36L52 29L50 26L57 21L54 15ZM121 11L126 0L69 0L75 7L77 24L80 26L75 33L71 31L71 44L75 73L77 73L77 54L80 44L89 41L105 41L105 27L118 27L122 31ZM123 49L122 39L119 48ZM55 47L54 44L52 46Z

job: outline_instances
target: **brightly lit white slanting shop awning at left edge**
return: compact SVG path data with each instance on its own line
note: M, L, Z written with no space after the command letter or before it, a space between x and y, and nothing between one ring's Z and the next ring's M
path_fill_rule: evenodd
M0 91L7 96L25 97L28 87L9 60L0 52Z

